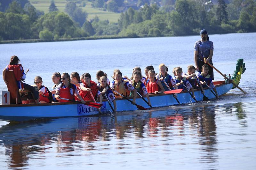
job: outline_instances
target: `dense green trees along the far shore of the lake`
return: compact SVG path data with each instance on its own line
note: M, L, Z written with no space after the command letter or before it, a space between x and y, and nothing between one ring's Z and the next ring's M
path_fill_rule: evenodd
M205 0L176 0L175 4L164 0L162 7L146 3L139 10L129 8L118 23L97 16L89 21L88 14L74 1L67 2L64 13L52 0L46 14L28 0L12 0L8 7L3 2L0 1L0 10L4 11L0 12L0 40L180 36L198 34L203 28L211 34L256 32L255 0L233 0L228 5L224 0L218 0L217 5Z

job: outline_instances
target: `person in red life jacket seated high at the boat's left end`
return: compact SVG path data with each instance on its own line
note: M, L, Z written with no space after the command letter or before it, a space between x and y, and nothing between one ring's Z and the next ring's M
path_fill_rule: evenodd
M32 93L33 93L33 97L34 97L34 100L36 101L36 104L39 104L39 93L38 91L36 91L35 87L31 86L31 85L28 85L26 83L23 83L21 82L25 80L26 78L26 75L24 73L24 69L22 67L21 64L19 64L19 61L20 59L16 56L16 55L13 55L11 57L11 61L9 63L9 65L7 65L4 70L3 70L3 79L4 79L4 82L6 85L8 85L8 81L5 80L5 73L6 71L8 70L13 70L14 72L14 75L15 75L15 78L16 78L16 82L17 82L17 86L18 86L18 89L28 89L30 90Z

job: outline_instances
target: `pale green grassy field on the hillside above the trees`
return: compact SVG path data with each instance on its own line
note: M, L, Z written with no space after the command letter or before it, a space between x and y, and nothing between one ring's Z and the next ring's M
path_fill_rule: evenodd
M29 1L33 6L35 6L37 10L44 11L45 14L49 12L49 6L51 4L51 0L29 0ZM54 0L54 2L57 8L60 11L64 12L67 1ZM79 6L79 4L77 4L77 6ZM92 19L97 15L100 18L100 20L108 19L109 22L117 22L118 18L120 17L119 13L108 12L108 11L103 11L97 8L92 8L91 2L86 2L86 6L82 7L82 9L88 13L87 20Z

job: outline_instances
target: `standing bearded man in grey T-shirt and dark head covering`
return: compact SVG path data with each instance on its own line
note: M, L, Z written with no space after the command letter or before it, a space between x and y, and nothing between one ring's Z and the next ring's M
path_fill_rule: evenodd
M194 60L196 65L197 71L202 71L202 66L207 64L207 62L212 64L212 55L213 55L213 42L209 41L209 36L205 29L200 31L201 40L195 42L194 46ZM204 63L204 57L206 62ZM207 64L208 65L208 64ZM213 65L213 64L212 64ZM209 66L209 73L208 73L212 80L213 80L213 68Z

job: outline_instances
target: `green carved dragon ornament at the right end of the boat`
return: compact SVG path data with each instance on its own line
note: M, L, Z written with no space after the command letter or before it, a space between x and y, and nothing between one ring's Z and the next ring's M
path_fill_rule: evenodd
M234 71L234 73L231 77L231 79L234 81L234 83L236 85L239 85L241 76L244 73L244 71L246 70L246 68L244 68L244 67L245 67L244 59L239 58L236 61L236 70ZM234 89L234 88L236 88L235 85L233 85L232 89Z

